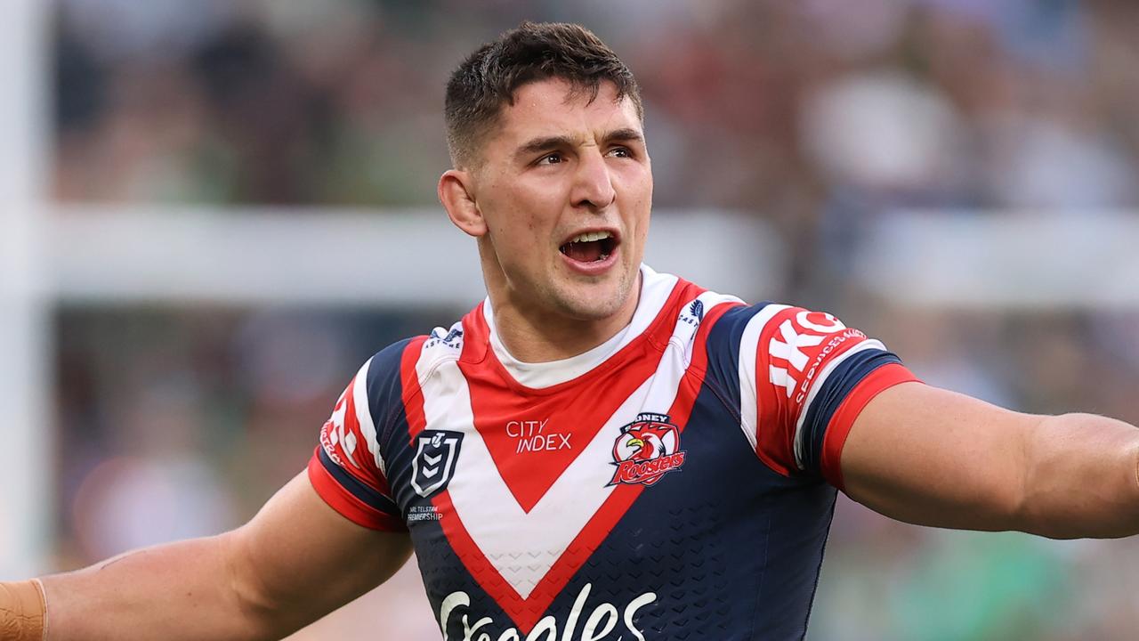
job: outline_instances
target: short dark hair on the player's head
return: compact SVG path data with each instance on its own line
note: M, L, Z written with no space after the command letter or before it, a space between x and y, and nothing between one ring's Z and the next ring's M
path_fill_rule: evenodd
M502 105L513 105L522 86L551 78L588 91L590 100L603 81L613 82L617 99L628 96L645 117L637 80L600 38L576 24L527 21L480 47L451 74L444 104L451 162L457 168L475 162Z

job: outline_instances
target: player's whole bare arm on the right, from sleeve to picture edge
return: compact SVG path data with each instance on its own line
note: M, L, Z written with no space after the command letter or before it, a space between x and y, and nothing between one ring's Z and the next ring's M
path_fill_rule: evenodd
M842 470L852 498L912 524L1139 534L1139 429L1103 416L1022 414L902 383L855 420Z

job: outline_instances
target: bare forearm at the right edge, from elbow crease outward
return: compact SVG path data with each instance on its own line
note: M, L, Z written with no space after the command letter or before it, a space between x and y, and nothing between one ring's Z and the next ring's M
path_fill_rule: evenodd
M1022 529L1054 538L1139 534L1139 429L1091 414L1047 416L1025 457Z

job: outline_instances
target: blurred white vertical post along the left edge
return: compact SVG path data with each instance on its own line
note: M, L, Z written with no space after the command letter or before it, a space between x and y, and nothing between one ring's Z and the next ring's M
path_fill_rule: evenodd
M10 0L0 21L0 581L46 569L52 415L38 249L47 184L50 2Z

